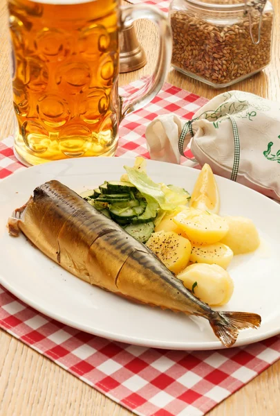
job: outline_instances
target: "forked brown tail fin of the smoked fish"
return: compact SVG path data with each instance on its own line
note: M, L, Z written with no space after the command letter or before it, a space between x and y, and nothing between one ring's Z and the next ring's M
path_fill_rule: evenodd
M248 312L216 312L209 317L210 325L225 347L232 347L239 331L248 328L259 328L261 317Z

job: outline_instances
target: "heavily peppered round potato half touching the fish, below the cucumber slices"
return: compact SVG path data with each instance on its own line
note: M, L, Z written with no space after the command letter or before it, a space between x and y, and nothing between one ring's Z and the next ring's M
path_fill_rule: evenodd
M146 245L175 274L187 266L192 251L189 240L171 231L154 232Z

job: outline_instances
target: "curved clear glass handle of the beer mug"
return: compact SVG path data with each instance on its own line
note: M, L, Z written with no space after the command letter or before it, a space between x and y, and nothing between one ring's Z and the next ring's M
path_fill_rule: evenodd
M149 19L156 23L160 32L160 50L155 71L149 76L147 83L138 92L127 97L120 96L120 121L127 114L142 108L158 94L165 82L172 53L171 28L168 17L163 12L152 6L128 6L122 8L121 19L121 30L128 28L137 19Z

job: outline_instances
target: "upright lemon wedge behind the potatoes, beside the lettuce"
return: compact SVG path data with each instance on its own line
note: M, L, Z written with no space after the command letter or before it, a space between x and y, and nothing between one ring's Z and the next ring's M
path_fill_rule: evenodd
M218 214L220 210L218 186L212 168L207 163L201 169L194 185L190 207L209 211L213 214Z

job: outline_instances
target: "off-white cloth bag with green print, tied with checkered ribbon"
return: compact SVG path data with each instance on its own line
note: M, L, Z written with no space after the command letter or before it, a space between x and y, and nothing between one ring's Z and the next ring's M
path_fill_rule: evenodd
M151 159L179 164L190 149L201 166L280 200L280 103L224 92L187 123L175 114L156 117L146 139Z

